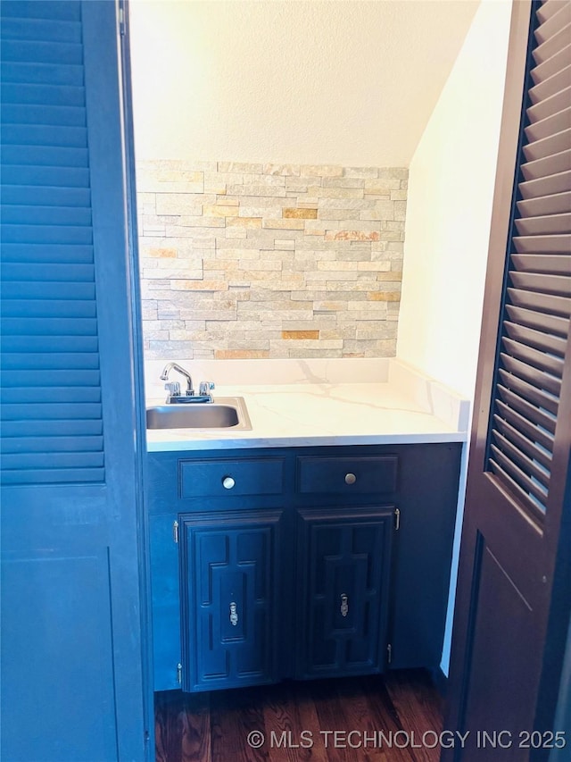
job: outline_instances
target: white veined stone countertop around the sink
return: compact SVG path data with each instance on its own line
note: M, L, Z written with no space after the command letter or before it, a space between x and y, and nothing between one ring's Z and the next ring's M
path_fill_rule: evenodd
M338 373L340 366L332 361L321 365L315 361L273 361L273 367L266 364L267 378L264 378L264 366L256 367L256 380L267 383L246 383L251 381L248 373L242 373L236 361L228 362L235 364L233 375L240 376L244 382L217 382L214 401L217 397L244 398L252 431L147 430L149 452L467 440L468 400L398 360L369 361L368 364L337 361L344 364L341 373ZM298 371L303 365L303 373L292 377L284 365L288 362L295 363ZM352 375L348 363L357 363L358 373L353 374L353 378L364 377L363 381L348 380ZM179 364L188 370L195 365L182 360ZM146 373L158 375L159 366L162 364L155 361L152 368L146 368ZM279 373L273 373L276 370ZM367 372L363 373L364 370ZM219 372L221 381L229 380L221 365L214 371ZM271 382L277 380L277 376L288 382ZM174 379L176 374L172 377ZM212 373L211 377L214 377ZM194 386L198 386L197 381ZM155 384L147 406L164 404L163 395L154 396L156 391Z

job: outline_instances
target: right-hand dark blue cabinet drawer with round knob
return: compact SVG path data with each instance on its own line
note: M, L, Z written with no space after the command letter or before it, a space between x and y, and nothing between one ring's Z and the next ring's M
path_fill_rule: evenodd
M397 456L299 457L297 489L302 493L363 495L396 490Z

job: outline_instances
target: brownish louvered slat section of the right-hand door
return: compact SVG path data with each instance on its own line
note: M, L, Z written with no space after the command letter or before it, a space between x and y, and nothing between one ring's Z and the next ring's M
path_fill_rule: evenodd
M489 471L535 517L548 502L571 315L571 3L536 13L487 449Z

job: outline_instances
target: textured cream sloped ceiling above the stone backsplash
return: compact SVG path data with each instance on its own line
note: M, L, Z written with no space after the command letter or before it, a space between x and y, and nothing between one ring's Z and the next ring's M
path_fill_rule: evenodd
M478 4L132 0L137 158L408 166Z

